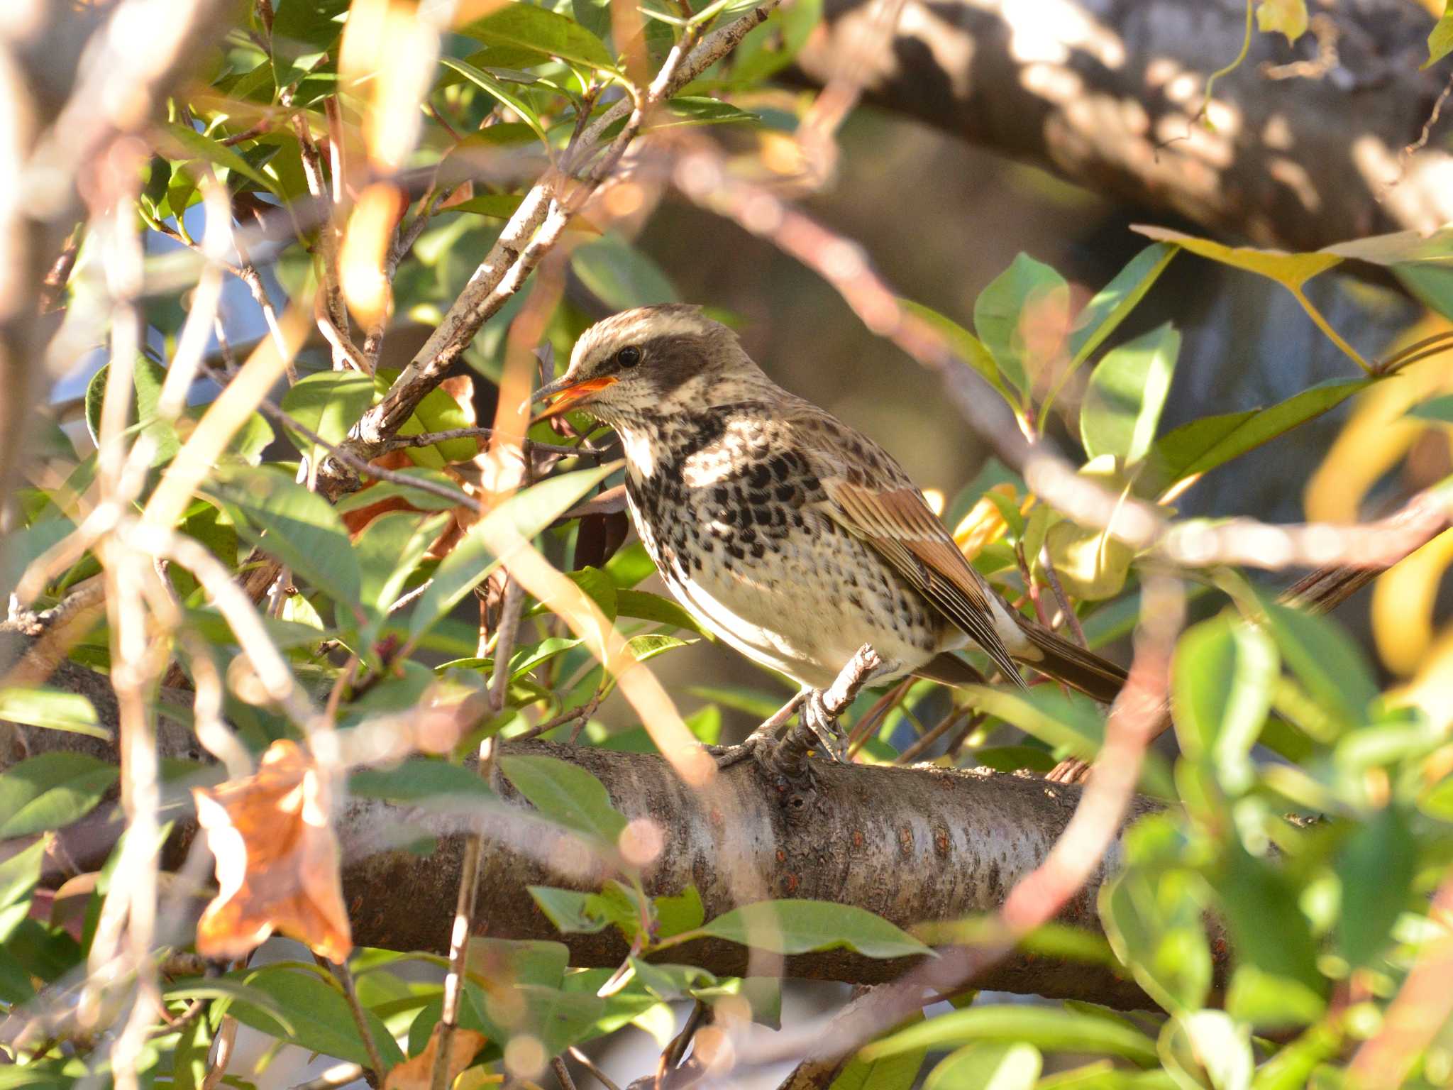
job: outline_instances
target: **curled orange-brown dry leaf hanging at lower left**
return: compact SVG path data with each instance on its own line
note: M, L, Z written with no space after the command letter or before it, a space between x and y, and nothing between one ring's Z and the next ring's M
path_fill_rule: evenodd
M196 926L198 953L241 958L276 930L341 964L353 937L314 760L275 741L254 776L192 794L221 887Z

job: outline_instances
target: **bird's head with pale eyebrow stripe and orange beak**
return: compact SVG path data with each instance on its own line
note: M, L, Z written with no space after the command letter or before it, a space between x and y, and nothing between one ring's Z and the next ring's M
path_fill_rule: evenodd
M766 376L737 334L686 304L636 307L597 321L570 368L535 392L543 417L584 408L613 427L721 404Z

